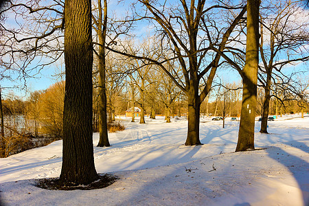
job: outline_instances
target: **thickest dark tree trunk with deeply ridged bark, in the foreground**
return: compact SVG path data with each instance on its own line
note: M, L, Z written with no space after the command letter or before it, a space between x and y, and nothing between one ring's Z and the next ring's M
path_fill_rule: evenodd
M99 178L93 159L91 1L65 1L65 106L62 183Z

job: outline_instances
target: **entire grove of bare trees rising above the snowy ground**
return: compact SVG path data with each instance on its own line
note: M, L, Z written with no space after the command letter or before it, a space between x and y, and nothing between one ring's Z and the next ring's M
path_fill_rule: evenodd
M140 124L186 117L186 146L203 144L201 117L240 117L236 151L254 149L257 115L267 133L268 115L309 112L309 13L298 1L119 1L121 13L108 3L10 0L1 9L1 80L26 85L65 60L65 80L23 100L3 98L1 82L1 157L14 153L13 139L62 138L61 183L89 184L100 178L93 131L111 146L108 122L135 106Z

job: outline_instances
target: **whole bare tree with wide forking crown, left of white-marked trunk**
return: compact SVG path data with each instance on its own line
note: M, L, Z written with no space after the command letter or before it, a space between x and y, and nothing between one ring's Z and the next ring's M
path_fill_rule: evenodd
M211 89L212 81L216 69L220 66L220 54L225 49L227 41L234 27L242 19L246 8L243 5L227 6L214 5L205 8L205 0L201 1L179 1L178 5L168 8L168 4L161 5L157 1L139 0L146 14L141 15L141 19L152 21L157 29L157 35L161 38L161 52L159 60L138 56L134 53L128 53L126 48L111 49L113 52L148 60L152 64L158 65L166 75L187 95L188 108L188 129L186 146L200 145L199 123L200 123L200 106ZM231 22L221 24L221 28L214 23L213 15L216 10L218 13L222 10L242 9L238 16ZM210 31L210 32L209 32ZM157 42L155 43L157 47ZM217 54L214 54L215 51ZM164 53L168 52L168 56ZM164 62L176 59L181 66L183 79L174 76L165 68ZM205 56L214 56L211 62L205 60ZM207 76L207 78L205 78ZM199 93L200 81L205 80L205 87Z

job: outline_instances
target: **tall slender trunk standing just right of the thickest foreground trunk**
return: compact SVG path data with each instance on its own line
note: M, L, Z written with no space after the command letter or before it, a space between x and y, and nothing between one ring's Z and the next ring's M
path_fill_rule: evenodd
M107 131L107 100L106 100L106 62L105 62L105 39L106 39L106 23L107 23L107 2L104 0L104 19L102 19L102 3L98 1L100 27L98 29L99 38L99 131L100 138L98 147L111 146L108 141ZM103 28L102 28L103 27Z

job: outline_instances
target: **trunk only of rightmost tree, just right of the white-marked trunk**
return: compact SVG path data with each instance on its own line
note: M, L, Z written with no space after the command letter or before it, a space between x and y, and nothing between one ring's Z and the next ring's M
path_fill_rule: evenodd
M263 108L262 108L262 122L261 122L260 133L268 133L267 132L267 120L268 120L270 100L271 100L271 76L267 74L265 97L264 97Z

